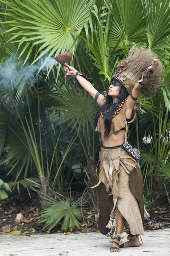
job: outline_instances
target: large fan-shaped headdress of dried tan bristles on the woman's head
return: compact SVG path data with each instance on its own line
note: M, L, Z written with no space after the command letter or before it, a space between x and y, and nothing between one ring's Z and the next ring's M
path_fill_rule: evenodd
M142 73L147 70L152 64L153 59L156 59L154 53L141 45L137 45L130 49L129 56L118 62L118 69L111 79L118 80L127 92L130 94L137 81L141 78ZM158 59L158 58L157 58ZM143 87L141 93L144 96L155 96L159 86L162 84L163 66L158 60L158 68L152 73L146 72L143 79Z

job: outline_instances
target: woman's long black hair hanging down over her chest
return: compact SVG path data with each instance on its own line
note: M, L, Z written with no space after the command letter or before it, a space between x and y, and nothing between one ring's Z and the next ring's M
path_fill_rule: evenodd
M115 85L115 86L120 86L121 84L119 83L119 81L117 80L111 80L111 84ZM116 108L118 107L118 105L121 104L121 102L127 98L128 93L127 93L127 89L121 85L120 87L120 92L118 95L118 102L117 103L113 103L113 98L112 96L108 95L108 90L109 87L107 88L107 92L106 92L106 101L104 103L103 106L101 106L101 108L99 109L98 113L95 116L95 128L97 126L98 123L98 119L101 115L101 112L104 112L105 110L107 110L108 108L110 108L110 110L105 114L104 116L104 138L107 140L109 133L110 133L110 128L111 128L111 122L112 122L112 116L115 113Z

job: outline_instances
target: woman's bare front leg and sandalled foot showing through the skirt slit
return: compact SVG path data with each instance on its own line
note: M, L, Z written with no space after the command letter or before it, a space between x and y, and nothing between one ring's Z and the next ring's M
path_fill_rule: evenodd
M122 233L125 223L126 223L125 218L121 215L121 212L119 211L118 207L116 207L116 233L117 234ZM110 250L111 253L112 252L120 252L119 244L117 244L116 242L112 242L111 247L117 247L118 248L118 249Z

